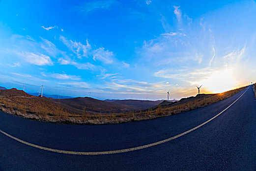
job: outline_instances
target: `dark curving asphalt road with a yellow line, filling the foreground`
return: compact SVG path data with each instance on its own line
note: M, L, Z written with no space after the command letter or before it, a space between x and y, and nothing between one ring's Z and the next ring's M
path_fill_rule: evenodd
M252 85L216 104L153 120L115 125L58 125L0 112L0 130L57 150L109 151L171 141L116 154L74 155L41 150L0 133L0 170L243 170L256 171L256 99Z

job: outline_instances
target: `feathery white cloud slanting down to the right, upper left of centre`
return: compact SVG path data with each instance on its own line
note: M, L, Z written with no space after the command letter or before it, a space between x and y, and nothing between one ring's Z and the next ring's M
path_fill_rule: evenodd
M88 40L86 40L86 45L84 45L80 42L73 42L72 40L67 40L63 36L60 36L59 39L73 53L75 53L79 59L82 59L82 57L88 57L88 52L91 50L91 45L88 43Z

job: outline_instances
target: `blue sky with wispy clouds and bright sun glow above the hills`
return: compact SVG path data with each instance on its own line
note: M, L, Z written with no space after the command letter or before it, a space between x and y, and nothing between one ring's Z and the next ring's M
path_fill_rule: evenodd
M0 0L0 86L171 99L255 83L254 0Z

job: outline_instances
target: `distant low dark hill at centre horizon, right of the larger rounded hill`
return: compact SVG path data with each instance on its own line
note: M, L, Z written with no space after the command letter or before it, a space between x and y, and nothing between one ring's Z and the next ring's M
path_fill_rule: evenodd
M105 100L107 101L107 100ZM127 106L131 106L131 107L136 107L140 110L142 109L146 109L149 107L154 107L159 105L161 102L163 102L163 100L158 100L158 101L150 101L150 100L109 100L115 104L119 104L119 105L127 105Z

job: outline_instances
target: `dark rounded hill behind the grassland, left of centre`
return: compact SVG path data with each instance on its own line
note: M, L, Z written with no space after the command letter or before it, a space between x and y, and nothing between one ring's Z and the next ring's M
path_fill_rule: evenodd
M90 97L77 97L70 99L53 99L55 102L60 102L70 107L98 113L120 113L128 110L139 110L138 107L116 104L107 101L101 101Z

